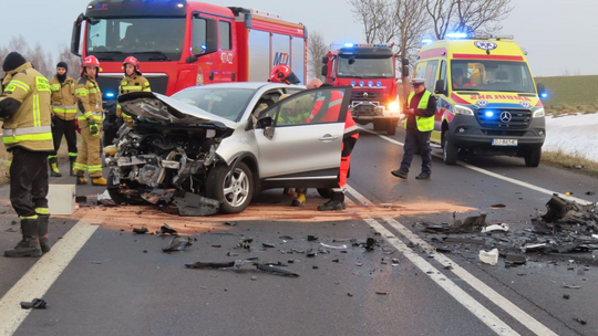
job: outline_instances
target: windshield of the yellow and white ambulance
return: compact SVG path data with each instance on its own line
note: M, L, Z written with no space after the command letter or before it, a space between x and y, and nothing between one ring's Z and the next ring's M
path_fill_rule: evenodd
M536 93L525 62L455 60L451 74L453 90Z

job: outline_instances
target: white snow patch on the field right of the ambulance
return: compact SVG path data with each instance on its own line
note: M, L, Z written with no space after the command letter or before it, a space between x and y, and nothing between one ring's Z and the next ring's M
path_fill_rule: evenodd
M598 162L598 113L547 117L543 150L578 154Z

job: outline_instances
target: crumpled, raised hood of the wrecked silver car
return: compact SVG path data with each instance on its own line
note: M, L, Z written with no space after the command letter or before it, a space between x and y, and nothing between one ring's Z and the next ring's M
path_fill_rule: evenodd
M153 92L134 92L118 96L124 113L169 124L221 124L235 128L236 124L199 107Z

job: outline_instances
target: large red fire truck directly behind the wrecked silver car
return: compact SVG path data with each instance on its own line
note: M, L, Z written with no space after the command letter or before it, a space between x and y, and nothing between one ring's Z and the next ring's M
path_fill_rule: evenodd
M277 14L186 0L93 0L73 25L71 52L96 56L107 122L123 61L141 62L152 91L223 82L265 82L278 64L306 82L307 30ZM106 123L105 123L106 124Z

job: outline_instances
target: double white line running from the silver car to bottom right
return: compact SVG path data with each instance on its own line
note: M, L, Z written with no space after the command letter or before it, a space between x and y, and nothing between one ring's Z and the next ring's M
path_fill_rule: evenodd
M351 188L350 186L347 186L348 192L354 197L358 201L360 201L363 204L373 204L372 201L367 199L364 196L359 193L355 189ZM494 332L496 332L498 335L518 335L515 330L513 330L508 325L506 325L503 321L501 321L497 316L495 316L492 312L489 312L486 307L484 307L482 304L480 304L475 298L473 298L471 295L468 295L466 292L461 290L457 285L455 285L452 281L444 277L444 275L437 274L440 273L439 270L436 270L434 266L432 266L427 261L425 261L423 258L421 258L417 253L415 253L413 250L411 250L409 246L406 246L401 240L399 240L392 232L386 230L382 224L380 224L377 220L371 218L363 218L363 220L370 224L374 230L380 232L382 237L389 241L393 246L395 246L399 251L401 251L414 265L416 265L422 272L433 271L434 274L430 274L431 279L439 284L443 290L445 290L451 296L453 296L458 303L461 303L465 308L467 308L470 312L472 312L477 318L480 318L484 324L486 324L488 327L491 327ZM413 233L411 230L405 228L403 224L398 222L396 220L392 218L385 218L384 221L390 224L392 228L396 229L403 237L409 239L414 244L419 244L420 246L427 249L430 251L434 251L434 248L430 245L427 242L419 238L415 233ZM528 328L530 332L533 332L536 335L542 336L557 336L556 333L550 330L548 327L539 323L537 319L532 317L529 314L525 313L522 308L513 304L511 301L498 294L496 291L494 291L492 287L486 285L484 282L480 281L477 277L472 275L470 272L454 263L450 258L442 253L434 253L434 260L437 261L443 266L452 266L451 272L453 272L456 276L462 279L465 283L467 283L470 286L472 286L474 290L480 292L482 295L484 295L486 298L488 298L491 302L496 304L498 307L501 307L503 311L505 311L508 315L513 316L513 318L517 319L520 324L523 324L526 328Z

